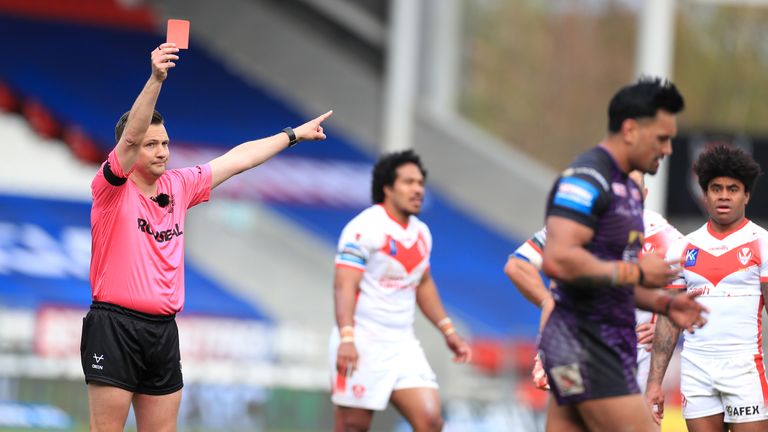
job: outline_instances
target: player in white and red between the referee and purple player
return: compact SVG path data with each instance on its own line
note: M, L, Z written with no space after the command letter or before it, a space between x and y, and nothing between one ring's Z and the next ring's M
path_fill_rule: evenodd
M329 349L337 431L368 430L373 411L390 401L414 430L442 429L435 374L413 333L416 305L443 332L454 360L469 360L432 280L432 235L416 217L425 177L413 151L382 157L374 205L341 233Z

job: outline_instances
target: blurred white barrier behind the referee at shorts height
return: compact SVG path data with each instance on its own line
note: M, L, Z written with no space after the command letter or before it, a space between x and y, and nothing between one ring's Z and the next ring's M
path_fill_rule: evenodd
M85 309L0 309L0 376L82 379ZM184 380L322 390L327 332L256 320L177 318Z

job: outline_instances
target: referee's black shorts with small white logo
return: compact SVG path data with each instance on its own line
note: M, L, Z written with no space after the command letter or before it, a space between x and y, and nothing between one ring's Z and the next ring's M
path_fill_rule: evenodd
M85 382L165 395L184 386L175 315L150 315L94 302L83 318Z

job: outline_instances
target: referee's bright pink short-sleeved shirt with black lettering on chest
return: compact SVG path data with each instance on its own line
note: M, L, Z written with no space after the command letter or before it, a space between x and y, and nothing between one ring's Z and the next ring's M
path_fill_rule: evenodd
M123 173L114 151L108 162L116 177L130 174ZM144 197L131 180L110 184L103 164L91 191L93 300L149 314L180 312L184 222L188 208L210 197L210 165L166 171L157 181L157 193L170 197L166 207Z

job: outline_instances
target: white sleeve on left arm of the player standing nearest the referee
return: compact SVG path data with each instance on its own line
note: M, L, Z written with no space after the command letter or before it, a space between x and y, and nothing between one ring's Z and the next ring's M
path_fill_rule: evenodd
M376 229L365 223L365 214L352 219L341 231L336 250L336 267L365 270L371 255L379 248Z

